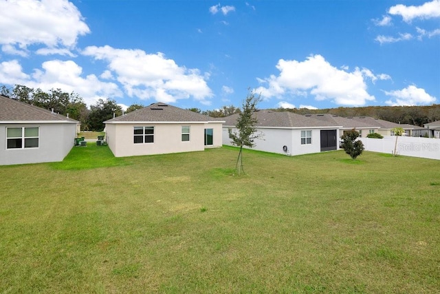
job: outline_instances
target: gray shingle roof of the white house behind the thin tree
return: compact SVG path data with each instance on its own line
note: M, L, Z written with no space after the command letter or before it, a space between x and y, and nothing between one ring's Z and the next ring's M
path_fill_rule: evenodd
M274 112L272 110L259 110L254 112L254 116L258 123L255 127L341 127L335 122L325 120L318 120L311 116L302 116L294 114L293 112ZM225 117L226 127L233 127L236 125L236 120L239 114L232 114L232 116Z

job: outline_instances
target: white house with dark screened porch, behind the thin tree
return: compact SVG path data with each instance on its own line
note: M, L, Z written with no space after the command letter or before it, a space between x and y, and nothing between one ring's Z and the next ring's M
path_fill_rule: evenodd
M338 129L342 127L338 123L271 110L259 110L254 116L258 120L256 130L263 136L254 141L253 149L292 156L338 149ZM236 129L238 117L239 114L225 117L224 145L232 145L229 130Z

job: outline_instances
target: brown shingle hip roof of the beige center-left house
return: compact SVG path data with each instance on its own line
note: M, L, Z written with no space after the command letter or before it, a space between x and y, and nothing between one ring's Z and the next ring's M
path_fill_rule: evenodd
M104 123L139 123L139 122L223 122L223 119L212 118L166 103L153 103L122 116L117 116Z

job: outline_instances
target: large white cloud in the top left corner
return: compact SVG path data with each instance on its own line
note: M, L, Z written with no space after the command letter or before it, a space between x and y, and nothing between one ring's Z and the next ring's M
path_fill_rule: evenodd
M78 36L90 32L78 8L67 0L0 1L0 11L0 28L8 28L0 30L0 44L20 50L43 44L52 50L44 54L65 54L58 50L74 48Z

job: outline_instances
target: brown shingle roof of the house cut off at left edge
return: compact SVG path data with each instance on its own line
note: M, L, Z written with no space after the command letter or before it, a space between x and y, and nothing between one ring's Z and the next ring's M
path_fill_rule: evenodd
M79 123L78 120L55 114L41 107L0 95L0 122Z

